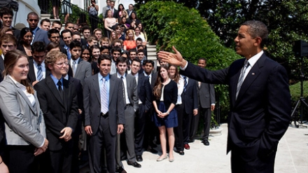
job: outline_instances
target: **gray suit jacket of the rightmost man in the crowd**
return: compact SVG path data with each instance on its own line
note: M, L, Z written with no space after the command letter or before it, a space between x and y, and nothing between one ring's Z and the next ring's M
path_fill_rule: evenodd
M200 83L200 88L197 83L197 93L199 104L202 108L211 108L211 104L215 104L215 89L213 84Z

